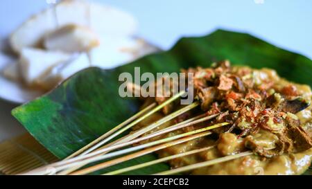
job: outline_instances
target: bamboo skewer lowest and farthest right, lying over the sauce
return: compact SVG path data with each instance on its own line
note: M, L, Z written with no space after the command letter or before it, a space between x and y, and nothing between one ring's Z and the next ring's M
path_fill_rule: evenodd
M186 171L189 171L189 170L194 170L194 169L206 167L206 166L209 166L209 165L214 165L216 163L222 163L222 162L225 162L225 161L230 161L232 159L238 159L240 157L249 156L251 154L253 154L253 152L248 151L248 152L243 152L243 153L235 154L235 155L231 155L231 156L224 156L224 157L221 157L221 158L218 158L218 159L213 159L213 160L204 161L204 162L200 162L200 163L196 163L196 164L192 164L192 165L187 165L187 166L184 166L182 168L176 168L174 170L168 170L168 171L164 171L164 172L159 172L159 173L153 174L153 175L177 174L177 173L180 173L180 172L186 172Z

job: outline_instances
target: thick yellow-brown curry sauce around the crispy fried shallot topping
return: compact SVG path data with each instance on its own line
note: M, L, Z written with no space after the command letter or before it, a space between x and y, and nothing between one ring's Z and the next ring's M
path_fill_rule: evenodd
M239 69L240 67L234 67L234 69ZM311 89L309 86L304 84L294 84L288 82L284 79L279 78L277 73L271 69L252 69L254 80L274 80L275 84L271 88L281 89L289 84L297 87L297 90L304 96L304 98L311 100ZM150 100L146 100L144 106L148 105ZM301 127L309 127L311 122L311 105L306 109L295 114L300 120ZM156 120L164 117L162 112L157 112L153 114L146 120L139 123L135 129L140 129L141 127L146 127ZM168 121L164 125L153 129L151 132L155 132L169 125L174 125L174 120ZM170 132L168 134L163 134L162 136L157 136L152 138L153 140L158 140L159 138L166 138L168 136L173 136L176 134L181 134L184 132L189 132L194 129L201 127L207 127L209 122L201 123L198 125L192 125L190 127L185 127L183 129L178 129L176 131ZM211 123L210 123L211 125ZM306 126L308 125L308 126ZM148 132L147 134L149 134ZM239 152L244 152L249 150L245 147L246 138L253 138L261 147L272 148L275 147L276 141L279 140L275 134L267 131L266 129L259 129L256 133L250 133L248 136L238 137L237 134L231 132L225 132L218 134L218 138L213 138L210 136L198 138L187 143L182 143L175 145L173 147L167 147L164 150L159 150L157 154L159 157L171 156L173 154L179 154L182 152L187 152L190 150L195 150L201 147L207 147L216 144L216 147L205 152L200 152L198 154L191 154L189 156L184 156L181 158L173 159L168 163L172 168L178 168L185 165L190 165L193 163L198 163L202 161L208 161L211 159L216 159L221 156L227 156L231 154L237 154ZM145 143L147 141L144 141ZM281 154L278 156L272 156L270 158L266 156L259 156L256 152L251 156L244 156L239 159L234 159L232 161L227 161L224 163L218 163L215 165L207 166L205 168L199 168L188 172L188 174L302 174L309 166L312 161L312 148L305 150L304 152L296 152L290 154Z

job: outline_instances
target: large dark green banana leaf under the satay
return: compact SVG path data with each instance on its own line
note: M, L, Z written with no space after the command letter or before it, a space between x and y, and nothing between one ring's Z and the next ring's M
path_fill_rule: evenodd
M211 62L225 59L254 68L269 67L288 80L312 86L309 58L245 33L216 30L205 37L182 38L170 51L148 55L116 69L80 71L50 93L17 107L12 115L37 141L63 159L138 111L137 99L119 96L120 73L133 75L135 66L141 68L141 73L171 73L191 66L210 66ZM110 170L155 158L149 154ZM168 165L162 163L127 174L166 169Z

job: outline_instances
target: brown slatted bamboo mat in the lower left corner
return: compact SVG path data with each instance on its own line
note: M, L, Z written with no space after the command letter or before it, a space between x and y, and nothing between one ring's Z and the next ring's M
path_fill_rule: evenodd
M18 174L57 160L31 134L0 143L0 174Z

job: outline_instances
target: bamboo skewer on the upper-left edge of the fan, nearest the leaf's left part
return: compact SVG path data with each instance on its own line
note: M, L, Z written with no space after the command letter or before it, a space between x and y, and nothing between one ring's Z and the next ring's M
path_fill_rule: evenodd
M133 120L135 120L136 118L139 118L139 116L141 116L142 114L146 113L146 111L152 109L153 107L155 107L157 105L156 102L152 103L151 105L149 105L148 107L142 109L141 111L139 111L137 114L135 114L134 116L132 116L131 118L128 118L128 120L125 120L123 123L117 125L116 127L114 127L113 129L111 129L109 132L106 132L105 134L103 134L102 136L96 138L96 140L92 141L92 143L89 143L88 145L85 145L85 147L81 148L80 150L74 152L73 154L71 154L70 156L68 156L66 159L70 159L74 156L78 156L79 154L85 152L85 150L89 149L89 147L92 147L93 145L95 145L96 143L99 143L100 141L103 141L103 139L107 138L107 136L110 136L111 134L113 134L114 132L116 132L116 130L120 129L121 127L124 127L125 125L128 125L129 123L131 123Z

